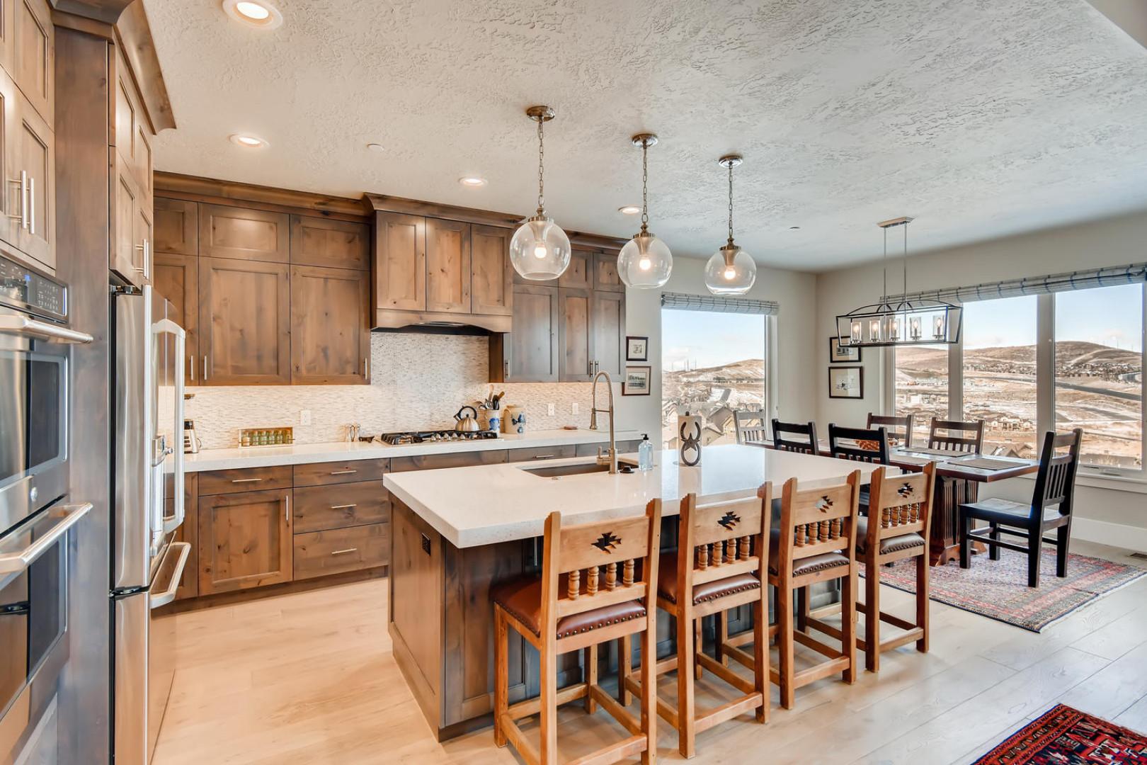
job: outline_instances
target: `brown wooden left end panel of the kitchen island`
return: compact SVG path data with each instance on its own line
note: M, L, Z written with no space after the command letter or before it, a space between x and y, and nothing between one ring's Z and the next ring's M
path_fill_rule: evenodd
M390 638L395 662L431 729L437 732L442 716L443 540L397 499L390 525Z

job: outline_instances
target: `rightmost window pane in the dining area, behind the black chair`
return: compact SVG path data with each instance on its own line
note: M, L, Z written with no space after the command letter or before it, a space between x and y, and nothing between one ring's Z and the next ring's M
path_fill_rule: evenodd
M1142 469L1144 288L1055 296L1055 427L1083 428L1084 465Z

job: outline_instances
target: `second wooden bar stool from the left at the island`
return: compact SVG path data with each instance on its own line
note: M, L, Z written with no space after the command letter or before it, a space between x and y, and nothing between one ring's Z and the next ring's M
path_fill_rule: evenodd
M763 586L768 522L772 517L772 484L757 491L756 499L711 502L689 494L681 500L678 551L663 553L657 572L657 607L677 623L677 656L657 662L657 674L677 670L677 708L657 700L657 713L677 728L682 757L696 755L696 734L715 725L756 710L758 723L768 721L768 593ZM692 598L682 596L692 593ZM754 672L754 680L736 674L702 653L701 619L739 606L752 606L754 656L725 646L725 655ZM739 635L740 637L740 635ZM627 639L622 639L623 651ZM645 655L642 655L642 662ZM694 684L702 670L741 692L741 696L699 713ZM641 693L626 674L625 684Z

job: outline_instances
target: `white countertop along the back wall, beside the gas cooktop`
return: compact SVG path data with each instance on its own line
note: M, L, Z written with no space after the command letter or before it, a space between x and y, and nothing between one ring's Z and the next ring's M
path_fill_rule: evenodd
M617 432L617 440L641 438L633 430ZM609 440L608 430L536 430L524 434L502 434L498 438L461 440L436 444L389 444L335 443L298 444L295 446L255 446L250 448L211 448L197 454L186 454L188 473L202 470L229 470L233 468L266 468L278 465L309 465L312 462L335 462L340 460L376 460L389 456L416 456L421 454L450 454L454 452L487 452L501 448L533 448L541 446L567 446L578 444L603 444Z

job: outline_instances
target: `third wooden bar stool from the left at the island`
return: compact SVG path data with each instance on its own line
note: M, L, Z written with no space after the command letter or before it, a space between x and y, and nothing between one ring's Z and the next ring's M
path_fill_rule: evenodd
M857 562L852 548L859 493L859 470L849 475L848 483L827 489L798 489L796 478L785 482L781 523L771 534L768 549L768 584L777 588L777 647L780 653L778 671L770 674L780 686L785 709L793 708L797 688L834 672L841 672L845 682L856 682ZM793 616L794 591L830 579L842 581L840 650L794 624ZM811 616L805 616L803 622L818 629L827 626ZM796 643L827 659L796 671Z

